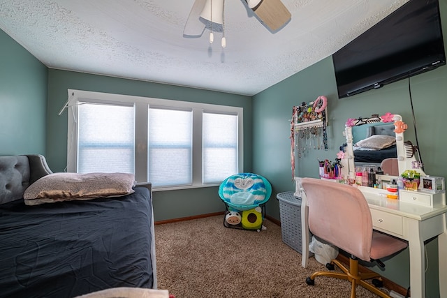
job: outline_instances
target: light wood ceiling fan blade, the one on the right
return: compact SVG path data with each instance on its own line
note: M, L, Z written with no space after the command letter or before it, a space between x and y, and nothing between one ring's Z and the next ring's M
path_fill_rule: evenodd
M248 0L247 3L259 20L272 31L277 31L291 20L290 11L281 0ZM256 3L256 6L254 6L254 3Z

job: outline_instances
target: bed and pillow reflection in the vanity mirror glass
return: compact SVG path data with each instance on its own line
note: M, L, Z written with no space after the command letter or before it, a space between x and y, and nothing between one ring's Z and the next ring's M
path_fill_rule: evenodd
M354 162L380 164L386 158L397 157L394 124L367 124L354 128Z

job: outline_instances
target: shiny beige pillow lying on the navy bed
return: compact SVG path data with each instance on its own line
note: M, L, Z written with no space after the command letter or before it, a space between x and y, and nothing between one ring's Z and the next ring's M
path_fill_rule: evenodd
M27 205L69 200L119 197L133 193L135 175L126 173L53 173L38 179L24 192Z

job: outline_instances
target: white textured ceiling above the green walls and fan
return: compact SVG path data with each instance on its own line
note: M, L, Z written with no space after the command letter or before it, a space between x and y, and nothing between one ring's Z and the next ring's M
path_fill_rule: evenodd
M265 0L267 1L267 0ZM184 38L193 0L0 0L0 29L49 68L253 96L330 56L407 0L282 0L272 33L243 0L221 33Z

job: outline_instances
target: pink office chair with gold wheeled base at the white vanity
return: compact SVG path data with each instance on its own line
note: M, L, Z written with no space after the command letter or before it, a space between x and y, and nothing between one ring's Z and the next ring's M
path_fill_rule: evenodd
M331 276L351 282L351 298L356 297L357 285L362 285L380 297L389 298L386 293L365 281L370 278L381 281L380 274L359 273L357 259L379 261L402 251L408 246L406 241L372 230L371 212L358 188L314 178L302 178L302 188L309 206L311 232L351 255L349 269L337 260L330 263L332 267L337 265L344 273L316 271L307 278L307 284L314 285L316 276ZM378 264L384 266L380 261Z

